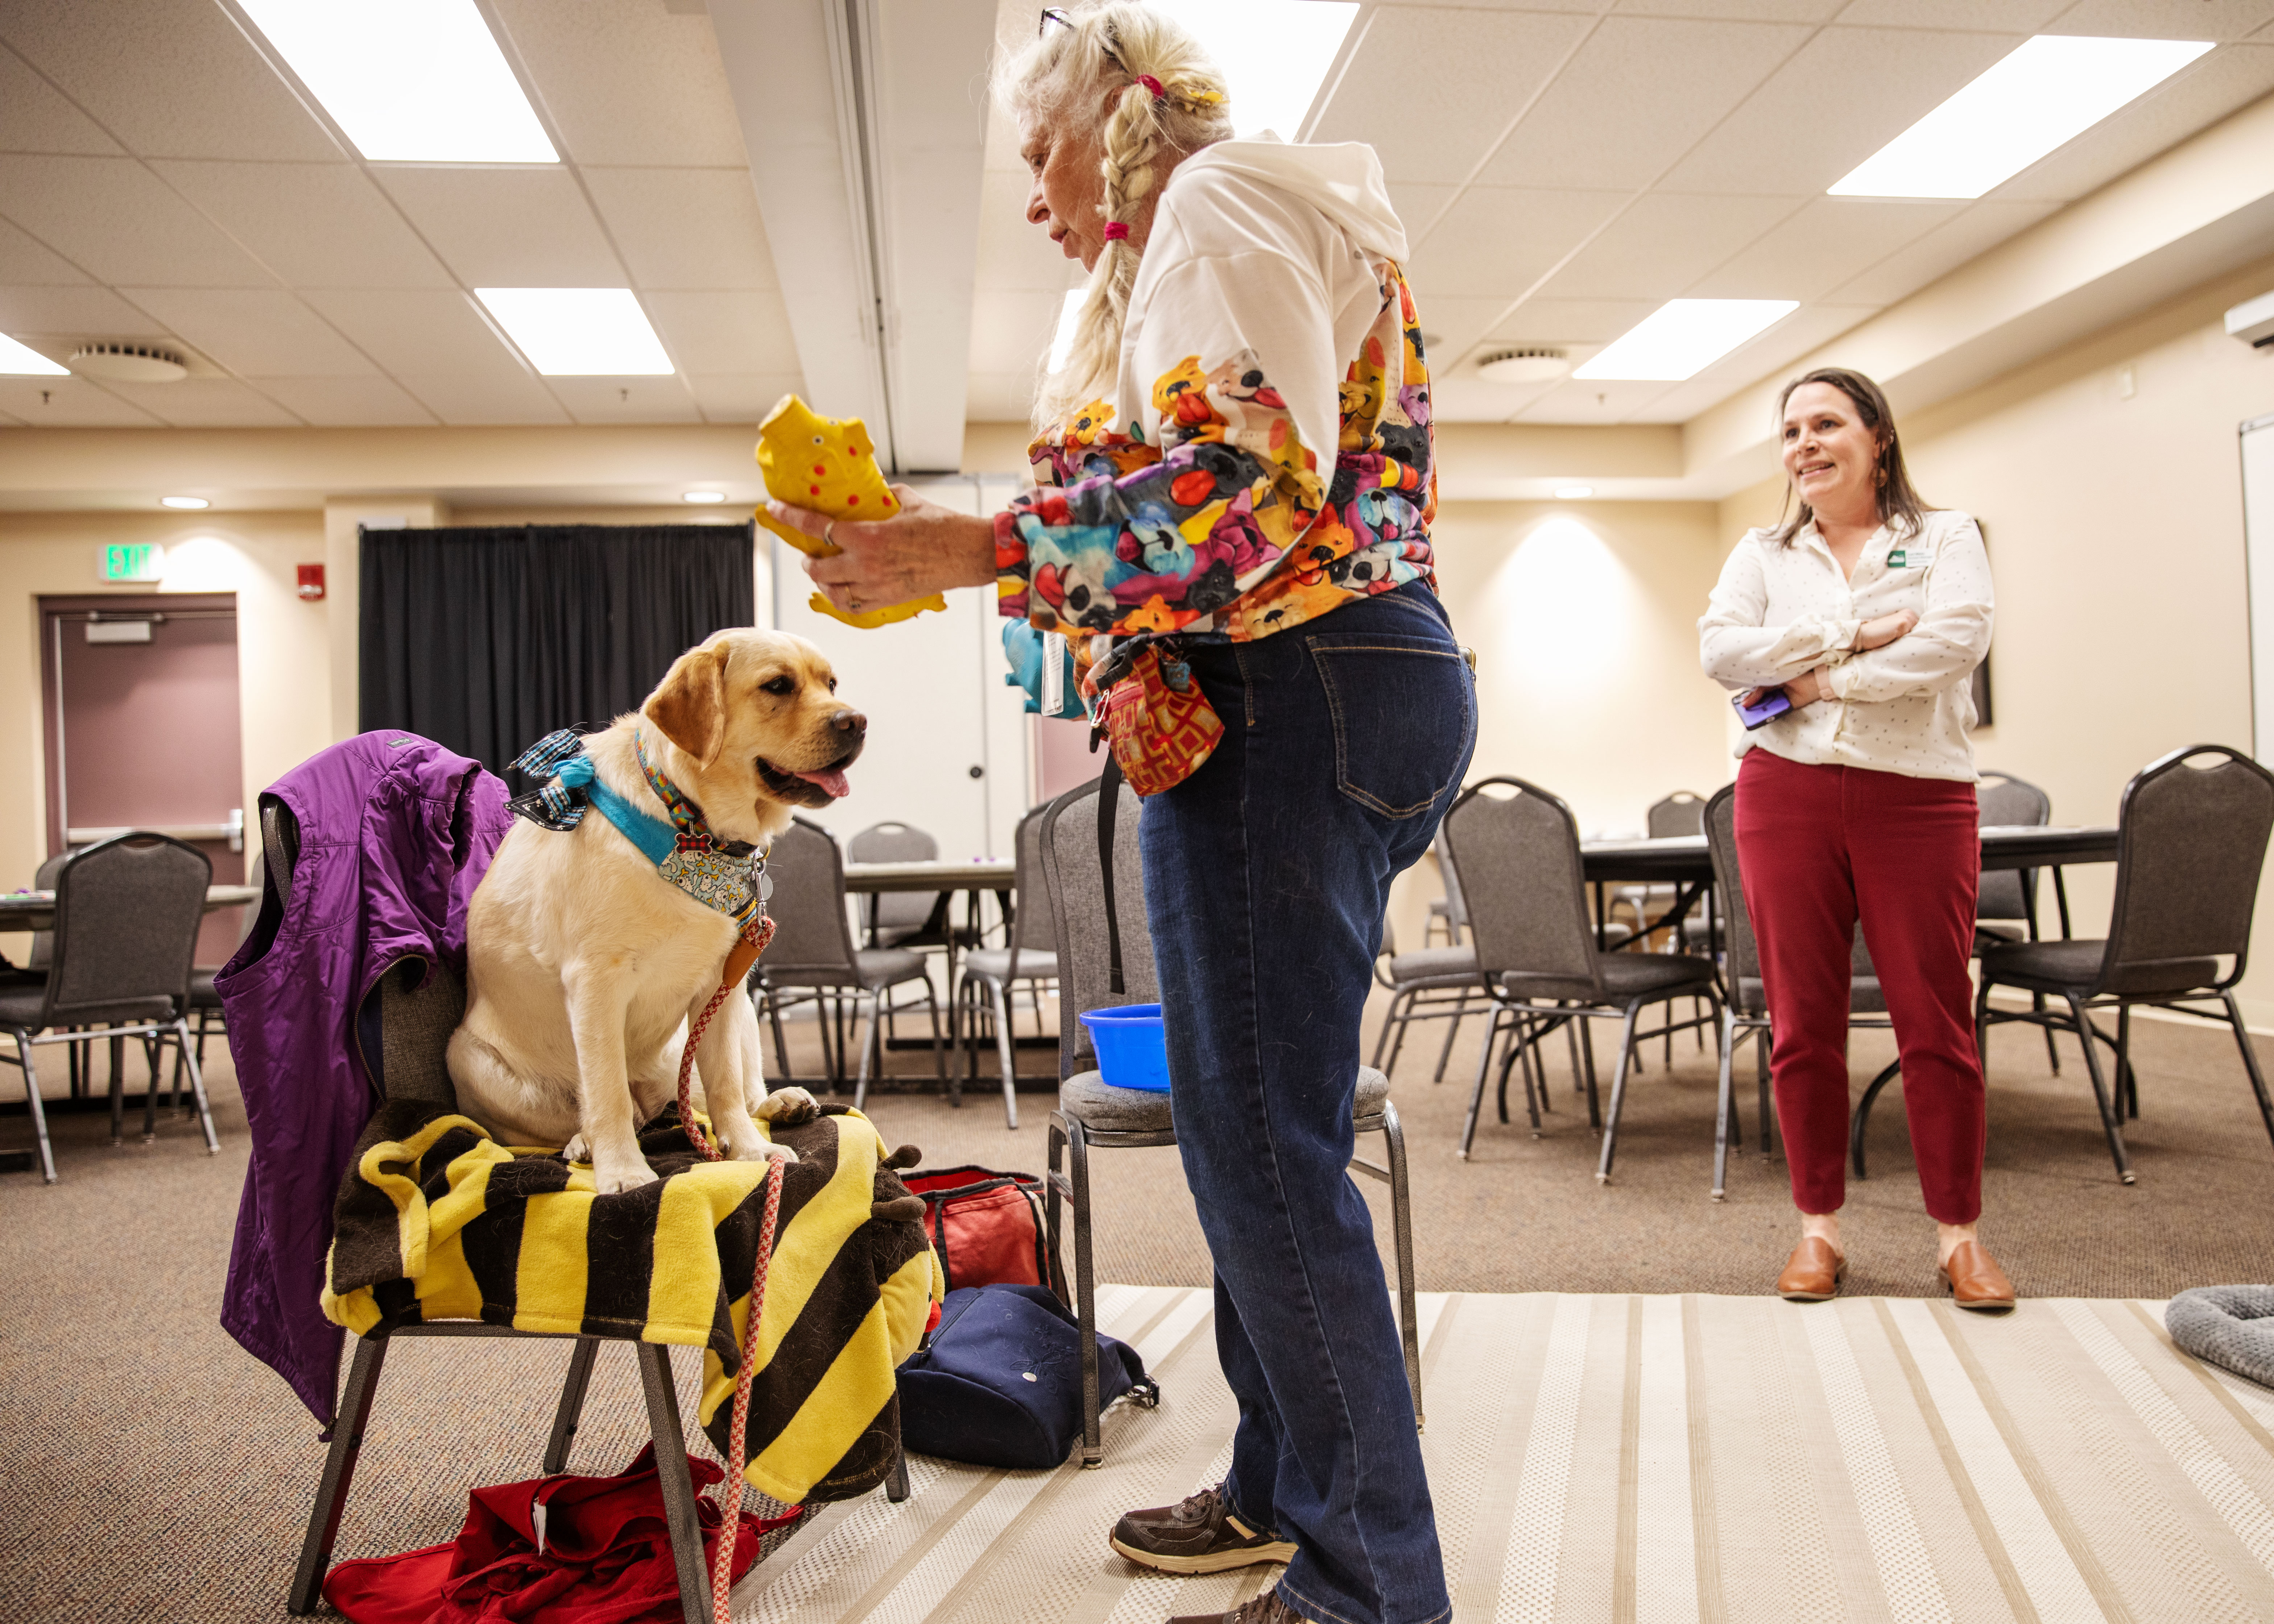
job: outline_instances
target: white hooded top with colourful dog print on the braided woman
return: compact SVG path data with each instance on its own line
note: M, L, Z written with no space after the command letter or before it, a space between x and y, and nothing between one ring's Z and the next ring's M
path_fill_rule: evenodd
M1435 580L1428 364L1405 275L1364 248L1364 223L1210 166L1214 152L1162 193L1119 400L1035 439L1041 489L996 519L1001 612L1092 657L1096 635L1251 641ZM1387 232L1403 248L1394 216ZM1273 234L1278 250L1255 246Z

